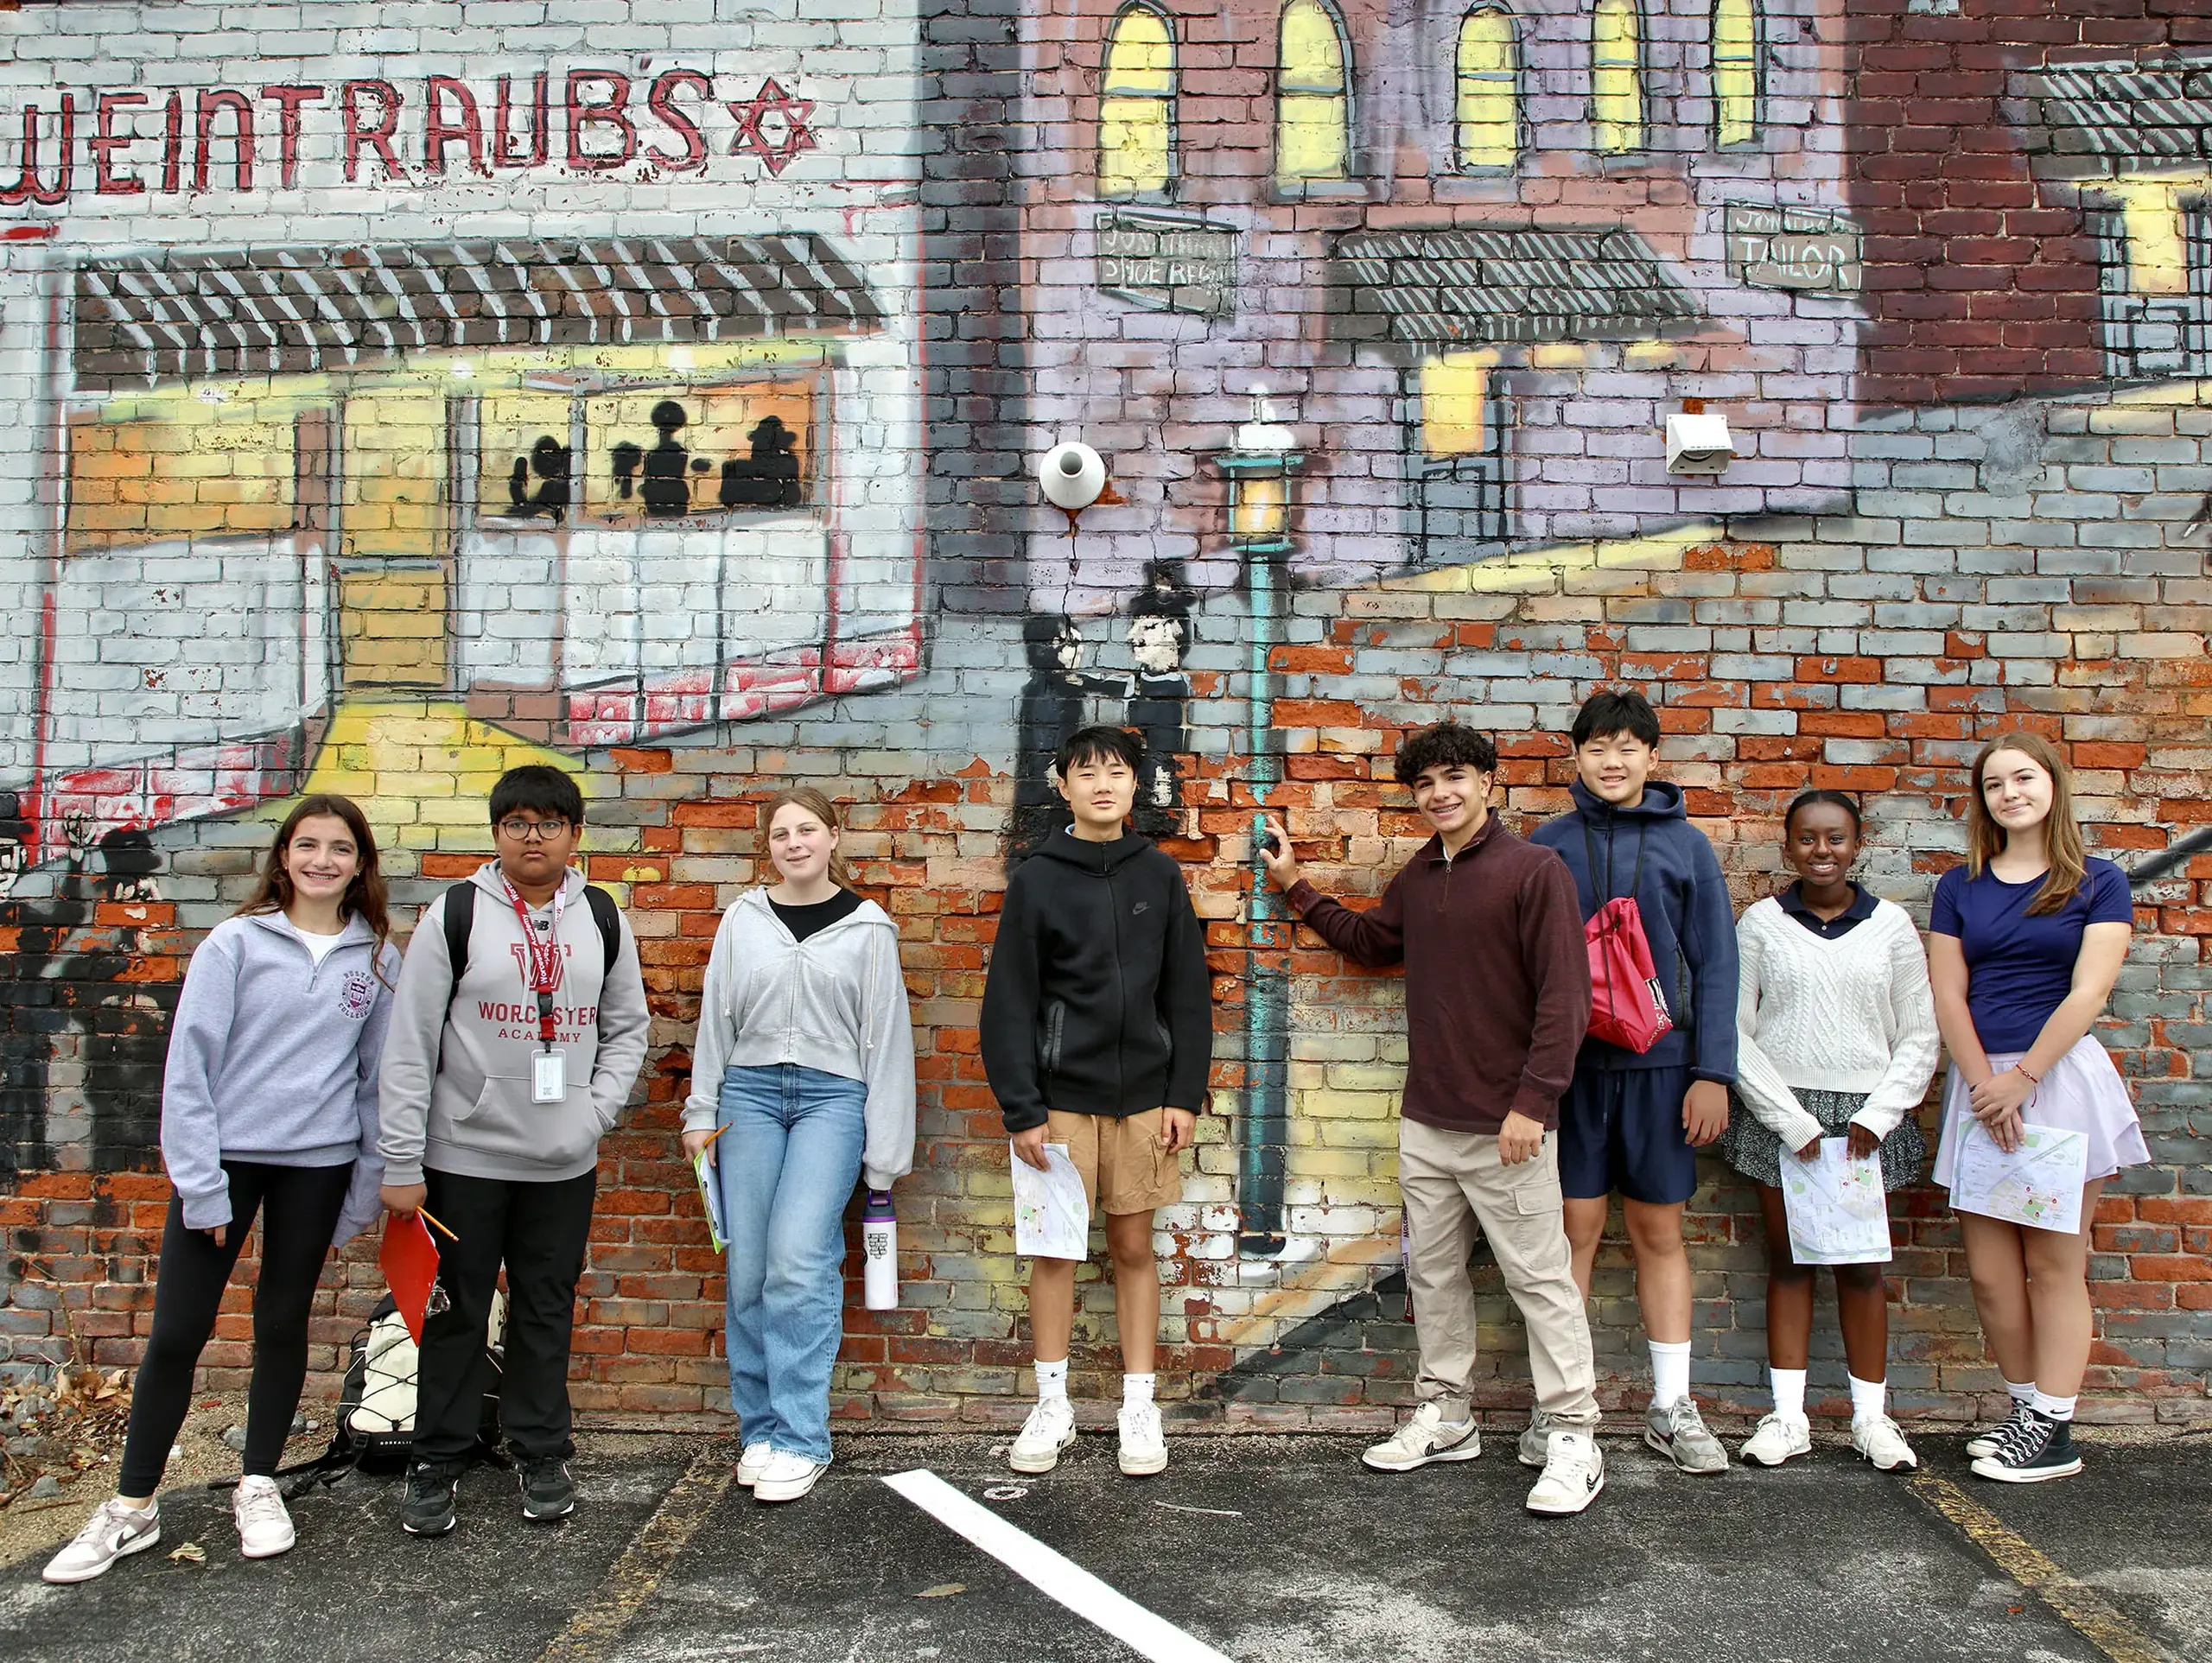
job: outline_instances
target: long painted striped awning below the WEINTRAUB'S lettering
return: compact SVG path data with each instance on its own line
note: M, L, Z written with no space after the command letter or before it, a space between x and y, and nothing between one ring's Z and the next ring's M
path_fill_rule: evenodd
M161 250L77 268L82 391L372 369L420 352L856 332L867 279L823 237Z

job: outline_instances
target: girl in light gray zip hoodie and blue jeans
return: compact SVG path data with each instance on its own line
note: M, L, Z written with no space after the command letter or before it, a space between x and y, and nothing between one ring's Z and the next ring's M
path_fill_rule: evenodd
M714 933L684 1148L712 1148L730 1232L737 1482L792 1502L830 1466L845 1203L914 1165L914 1022L898 929L845 887L830 801L783 792L763 825L781 882Z

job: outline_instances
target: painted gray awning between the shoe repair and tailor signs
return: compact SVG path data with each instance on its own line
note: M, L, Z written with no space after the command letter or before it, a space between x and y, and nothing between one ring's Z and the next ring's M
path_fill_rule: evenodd
M1436 347L1681 332L1697 299L1630 230L1378 230L1336 239L1332 332Z

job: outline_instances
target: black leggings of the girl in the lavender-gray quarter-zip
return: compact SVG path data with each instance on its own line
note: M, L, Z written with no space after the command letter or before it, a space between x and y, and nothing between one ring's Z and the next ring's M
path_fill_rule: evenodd
M170 1444L192 1406L192 1371L215 1333L230 1267L261 1212L261 1276L254 1283L254 1378L246 1393L246 1475L276 1471L292 1435L292 1411L307 1380L307 1307L323 1278L354 1163L263 1165L223 1161L230 1223L210 1236L186 1230L184 1201L170 1194L161 1225L161 1269L153 1289L153 1336L131 1393L119 1495L153 1495ZM217 1241L219 1236L219 1241Z

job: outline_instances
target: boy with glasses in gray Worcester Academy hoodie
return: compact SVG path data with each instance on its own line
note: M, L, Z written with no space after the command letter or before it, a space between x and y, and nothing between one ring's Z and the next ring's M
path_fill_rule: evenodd
M628 920L571 869L584 794L557 767L491 789L498 860L425 909L383 1061L385 1207L427 1210L447 1307L422 1325L403 1524L453 1528L489 1380L484 1329L507 1267L500 1429L522 1517L575 1510L568 1340L599 1139L646 1059L646 984Z

